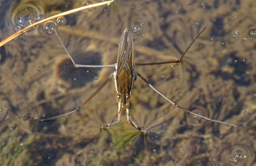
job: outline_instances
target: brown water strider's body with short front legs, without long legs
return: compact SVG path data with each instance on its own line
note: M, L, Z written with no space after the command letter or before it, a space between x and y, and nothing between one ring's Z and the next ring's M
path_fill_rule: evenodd
M110 123L101 128L107 127L111 125L118 124L120 119L121 108L124 108L126 111L127 121L130 125L138 130L142 130L138 127L132 118L130 117L130 109L129 109L129 101L130 93L133 87L134 78L136 78L136 72L133 72L134 64L133 61L133 42L132 35L129 30L126 28L124 30L123 35L120 38L118 55L117 55L117 63L115 64L116 71L114 72L114 81L116 85L116 98L118 100L118 118L117 122Z

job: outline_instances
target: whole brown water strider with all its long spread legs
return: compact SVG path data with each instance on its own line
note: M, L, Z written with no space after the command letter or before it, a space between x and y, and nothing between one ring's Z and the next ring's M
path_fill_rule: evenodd
M205 29L205 28L204 28ZM117 55L117 63L112 64L112 65L79 65L76 64L75 61L72 59L71 55L68 53L66 47L64 46L64 44L62 43L60 36L58 34L58 32L55 30L56 35L58 36L62 46L64 47L64 49L66 50L66 52L68 53L69 58L72 60L73 64L75 65L75 67L79 68L79 67L115 67L116 71L114 71L106 80L104 83L102 83L100 85L100 87L88 98L84 101L84 103L82 105L80 105L79 107L77 107L75 110L70 111L68 113L65 114L61 114L58 116L53 116L50 118L45 118L45 119L34 119L34 118L26 118L26 117L17 117L17 118L22 118L22 119L26 119L26 120L33 120L33 121L50 121L56 118L59 118L61 116L64 115L68 115L71 113L74 113L78 110L80 110L82 107L84 107L84 105L91 100L107 83L108 81L113 77L114 78L114 82L115 82L115 86L116 86L116 98L118 100L118 112L115 116L115 118L112 120L111 123L108 123L104 126L101 126L101 129L108 129L110 126L116 125L121 121L121 110L124 109L126 116L127 116L127 121L128 123L140 130L143 133L147 133L148 131L145 130L143 127L139 127L137 126L137 124L132 120L132 118L130 117L130 104L129 104L129 99L130 99L130 92L131 89L133 87L133 83L134 80L136 79L137 76L139 76L145 83L148 84L148 86L150 88L152 88L154 91L156 91L159 95L161 95L162 97L164 97L164 99L166 99L168 102L170 102L171 104L173 104L174 106L192 114L197 120L198 123L200 123L201 119L206 119L208 121L212 121L212 122L217 122L217 123L223 123L223 124L227 124L227 125L232 125L235 126L234 124L231 123L227 123L227 122L223 122L223 121L219 121L219 120L214 120L208 117L205 117L203 115L199 115L196 114L194 112L189 111L186 108L180 107L177 103L173 102L171 99L169 99L167 96L165 96L162 92L158 91L153 85L151 85L142 75L140 75L140 73L133 71L135 66L145 66L145 65L160 65L160 64L168 64L168 63L179 63L181 61L181 59L184 57L184 55L186 54L186 52L188 51L188 49L190 48L190 46L196 41L196 39L198 38L198 36L204 31L204 29L196 36L196 38L189 44L188 48L186 49L186 51L182 54L182 56L180 57L179 60L173 60L173 61L166 61L166 62L156 62L156 63L133 63L133 41L132 41L132 35L130 34L129 30L126 28L124 30L123 35L120 37L120 41L119 41L119 47L118 47L118 55ZM114 120L117 117L117 121L114 122Z

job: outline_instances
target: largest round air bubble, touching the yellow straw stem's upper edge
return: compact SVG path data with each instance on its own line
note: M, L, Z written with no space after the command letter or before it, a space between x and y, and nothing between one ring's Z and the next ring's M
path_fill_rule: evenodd
M20 28L26 28L36 22L37 12L31 7L24 7L14 17L15 24Z

